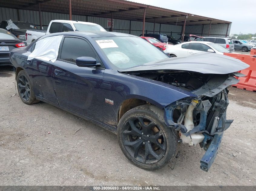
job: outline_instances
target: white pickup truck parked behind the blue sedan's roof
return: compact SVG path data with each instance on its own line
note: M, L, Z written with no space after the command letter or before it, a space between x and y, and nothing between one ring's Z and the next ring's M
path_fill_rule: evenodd
M106 31L103 27L95 23L68 20L53 20L50 22L47 30L27 30L25 39L27 45L34 40L50 33L60 33L69 31Z

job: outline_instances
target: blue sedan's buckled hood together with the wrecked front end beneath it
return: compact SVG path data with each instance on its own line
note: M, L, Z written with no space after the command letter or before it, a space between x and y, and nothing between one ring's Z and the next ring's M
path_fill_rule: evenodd
M223 132L233 122L226 119L227 88L244 76L236 71L248 66L229 56L202 53L146 63L121 72L170 84L174 92L190 96L163 106L165 123L177 133L179 142L190 146L199 143L204 148L200 169L207 172L218 153Z

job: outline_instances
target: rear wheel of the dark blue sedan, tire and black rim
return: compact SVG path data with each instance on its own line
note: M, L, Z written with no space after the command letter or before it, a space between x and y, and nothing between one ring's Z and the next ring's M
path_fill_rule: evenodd
M18 93L23 103L30 105L40 102L40 100L35 99L35 94L31 81L28 74L24 70L21 70L18 73L16 82Z

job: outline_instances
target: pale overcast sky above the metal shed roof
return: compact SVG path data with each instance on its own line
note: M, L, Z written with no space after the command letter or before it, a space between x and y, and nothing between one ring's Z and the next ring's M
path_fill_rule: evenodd
M232 22L230 34L256 33L256 0L131 0Z

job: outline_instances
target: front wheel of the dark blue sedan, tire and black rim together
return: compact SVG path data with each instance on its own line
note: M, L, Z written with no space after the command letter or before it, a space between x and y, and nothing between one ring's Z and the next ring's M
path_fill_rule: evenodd
M145 170L164 167L178 152L178 134L165 124L163 110L152 105L127 111L118 123L117 136L128 160Z

